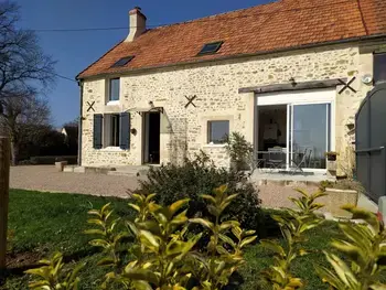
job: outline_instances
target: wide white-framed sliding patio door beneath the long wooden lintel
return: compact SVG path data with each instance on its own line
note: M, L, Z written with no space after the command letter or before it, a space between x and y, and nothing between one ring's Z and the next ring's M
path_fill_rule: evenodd
M268 143L268 150L275 146L282 148L286 152L287 170L293 167L293 161L299 162L307 150L308 158L303 169L326 171L324 153L335 150L335 88L269 93L257 97L257 114L261 118L255 126L257 126L260 136L264 136L265 132L264 121L275 123L277 121L275 118L281 120L279 119L281 115L278 112L270 115L274 116L271 120L265 120L262 118L265 111L287 111L285 112L287 115L286 143L276 144L275 140L266 142ZM278 105L281 108L278 108ZM261 137L255 142L259 143L260 151L266 151L266 144Z

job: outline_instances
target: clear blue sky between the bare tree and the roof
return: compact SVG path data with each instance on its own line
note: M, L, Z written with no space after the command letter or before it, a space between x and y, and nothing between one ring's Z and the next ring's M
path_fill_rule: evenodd
M39 32L46 29L128 26L128 11L139 6L149 25L175 23L211 14L248 8L268 0L19 0L20 26L37 31L44 52L57 61L56 73L75 78L128 30L87 32ZM79 89L75 82L57 78L49 94L55 126L79 115Z

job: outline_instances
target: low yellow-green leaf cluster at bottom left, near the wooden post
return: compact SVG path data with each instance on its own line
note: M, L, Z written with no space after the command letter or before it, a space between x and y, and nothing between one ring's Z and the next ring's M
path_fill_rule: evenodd
M30 289L34 290L77 290L79 284L78 271L85 266L84 264L75 267L71 272L63 271L63 255L55 253L51 259L39 261L42 266L36 269L26 270L26 273L37 276L39 279L29 283Z

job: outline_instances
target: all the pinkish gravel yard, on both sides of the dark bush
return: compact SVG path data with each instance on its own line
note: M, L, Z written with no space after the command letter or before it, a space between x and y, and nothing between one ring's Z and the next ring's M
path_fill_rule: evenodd
M64 173L57 172L54 165L35 165L11 168L10 185L12 189L126 197L128 189L135 190L138 186L138 180L135 176ZM274 208L291 206L288 197L298 195L293 187L299 185L283 186L269 183L259 186L261 205ZM300 187L309 192L317 190L315 186L300 185Z

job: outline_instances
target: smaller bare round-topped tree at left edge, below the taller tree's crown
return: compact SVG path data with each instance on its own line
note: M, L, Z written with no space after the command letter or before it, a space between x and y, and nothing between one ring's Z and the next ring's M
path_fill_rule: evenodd
M3 99L1 122L11 138L12 164L19 161L20 146L39 138L50 128L50 107L34 92L19 92Z

